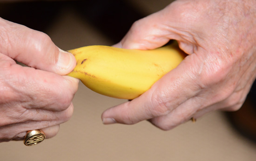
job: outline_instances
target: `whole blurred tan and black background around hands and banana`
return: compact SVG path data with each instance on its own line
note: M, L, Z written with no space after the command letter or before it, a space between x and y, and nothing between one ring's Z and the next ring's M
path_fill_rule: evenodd
M135 20L172 0L2 0L0 17L47 33L63 50L113 45ZM254 87L255 88L255 87ZM162 131L144 121L103 125L101 113L127 100L101 96L80 84L74 115L54 138L37 146L0 143L0 161L255 161L255 95L237 112L209 113Z

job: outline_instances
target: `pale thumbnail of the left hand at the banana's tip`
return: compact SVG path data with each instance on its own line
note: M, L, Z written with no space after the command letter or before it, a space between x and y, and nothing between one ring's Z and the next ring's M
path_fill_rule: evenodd
M59 49L59 58L58 58L58 62L57 62L57 66L59 68L59 70L61 71L66 71L66 70L73 70L73 65L74 65L74 56L69 53L69 52L65 52L61 49Z

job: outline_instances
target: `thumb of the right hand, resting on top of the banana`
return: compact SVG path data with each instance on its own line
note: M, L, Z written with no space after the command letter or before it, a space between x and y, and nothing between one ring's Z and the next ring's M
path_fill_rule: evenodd
M120 43L119 48L150 50L168 43L175 35L169 30L171 17L165 9L135 21Z

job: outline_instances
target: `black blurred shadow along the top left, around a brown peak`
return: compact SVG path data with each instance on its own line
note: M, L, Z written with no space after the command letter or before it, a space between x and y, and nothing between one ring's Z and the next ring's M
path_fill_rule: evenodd
M119 42L130 26L144 17L122 0L31 1L0 3L0 17L44 32L61 8L74 8L114 43Z

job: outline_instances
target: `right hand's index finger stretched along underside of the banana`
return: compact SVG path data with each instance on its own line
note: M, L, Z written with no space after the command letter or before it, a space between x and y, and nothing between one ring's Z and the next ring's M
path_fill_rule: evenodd
M134 124L142 120L164 116L194 96L200 88L190 77L193 72L185 70L187 69L186 64L187 61L183 61L140 97L107 109L101 116L103 123ZM184 72L184 77L180 77L181 71Z

